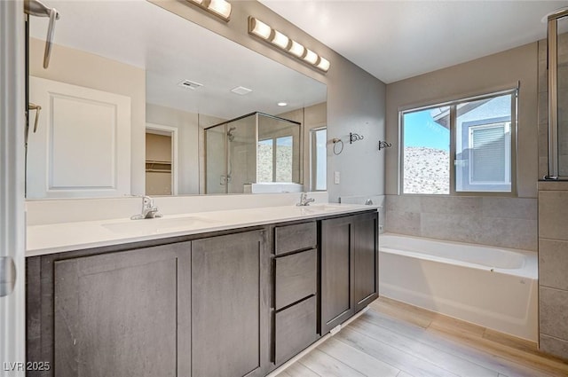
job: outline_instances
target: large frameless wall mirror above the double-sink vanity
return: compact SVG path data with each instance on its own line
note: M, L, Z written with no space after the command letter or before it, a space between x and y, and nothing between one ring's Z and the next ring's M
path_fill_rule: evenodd
M45 3L61 16L47 69L48 20L29 21L28 198L322 188L325 84L143 0Z

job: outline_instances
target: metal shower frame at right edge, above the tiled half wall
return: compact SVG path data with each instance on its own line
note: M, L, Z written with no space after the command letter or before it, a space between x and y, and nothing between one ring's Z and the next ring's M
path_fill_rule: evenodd
M544 179L568 180L560 176L558 164L558 20L568 17L568 10L548 16L548 176Z

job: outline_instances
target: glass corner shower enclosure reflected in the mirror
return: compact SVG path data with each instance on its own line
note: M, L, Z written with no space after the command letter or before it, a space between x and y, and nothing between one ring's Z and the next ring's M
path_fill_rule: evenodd
M205 192L300 183L300 123L253 113L205 129ZM300 185L288 185L299 191Z

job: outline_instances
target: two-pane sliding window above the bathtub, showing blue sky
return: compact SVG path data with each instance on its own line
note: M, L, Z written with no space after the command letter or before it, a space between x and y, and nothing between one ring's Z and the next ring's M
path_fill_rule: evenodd
M512 192L517 90L401 112L402 193Z

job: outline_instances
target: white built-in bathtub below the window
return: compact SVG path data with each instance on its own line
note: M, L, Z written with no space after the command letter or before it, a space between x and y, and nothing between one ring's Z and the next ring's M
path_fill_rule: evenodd
M532 342L538 340L537 253L379 236L379 294Z

